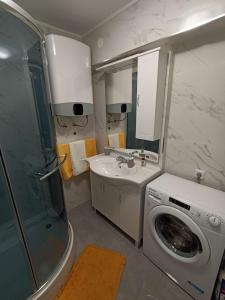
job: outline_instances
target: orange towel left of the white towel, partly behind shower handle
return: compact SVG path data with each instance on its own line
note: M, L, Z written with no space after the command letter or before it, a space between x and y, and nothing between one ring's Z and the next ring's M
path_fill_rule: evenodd
M69 144L58 144L57 153L59 156L67 155L66 161L60 167L60 173L64 180L69 180L73 176Z

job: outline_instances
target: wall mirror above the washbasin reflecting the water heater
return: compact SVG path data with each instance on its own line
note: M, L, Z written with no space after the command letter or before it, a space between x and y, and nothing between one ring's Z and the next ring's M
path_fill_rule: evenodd
M116 148L159 152L159 140L136 138L137 66L105 73L107 134Z

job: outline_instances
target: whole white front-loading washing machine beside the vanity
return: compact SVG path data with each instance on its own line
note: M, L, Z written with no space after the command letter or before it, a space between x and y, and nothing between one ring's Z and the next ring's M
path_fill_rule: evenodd
M143 252L194 299L211 299L224 249L224 192L168 173L147 185Z

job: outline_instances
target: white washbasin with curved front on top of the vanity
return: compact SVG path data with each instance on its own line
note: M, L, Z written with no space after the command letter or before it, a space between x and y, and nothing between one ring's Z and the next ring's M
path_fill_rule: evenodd
M133 168L128 168L126 163L119 165L115 156L105 156L104 154L96 155L88 158L90 169L97 175L108 177L114 180L126 180L144 185L153 177L160 174L161 170L158 165L147 163L141 166L141 161L135 159Z

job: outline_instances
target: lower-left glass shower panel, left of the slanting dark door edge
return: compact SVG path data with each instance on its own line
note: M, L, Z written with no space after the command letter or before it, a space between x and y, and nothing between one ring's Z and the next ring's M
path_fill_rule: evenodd
M24 300L36 289L0 155L1 299Z

